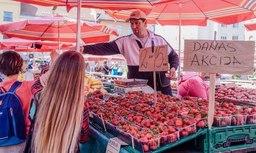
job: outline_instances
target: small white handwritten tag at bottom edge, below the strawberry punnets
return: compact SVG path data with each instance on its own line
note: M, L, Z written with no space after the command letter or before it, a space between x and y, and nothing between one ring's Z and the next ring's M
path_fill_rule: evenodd
M106 153L117 153L120 151L121 145L128 145L118 138L110 138L108 146L106 147Z

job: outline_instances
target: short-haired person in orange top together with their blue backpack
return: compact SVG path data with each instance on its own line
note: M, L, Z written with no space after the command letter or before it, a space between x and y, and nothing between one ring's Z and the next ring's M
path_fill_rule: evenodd
M11 50L0 54L0 152L23 152L29 132L29 109L34 81L17 80L24 60Z

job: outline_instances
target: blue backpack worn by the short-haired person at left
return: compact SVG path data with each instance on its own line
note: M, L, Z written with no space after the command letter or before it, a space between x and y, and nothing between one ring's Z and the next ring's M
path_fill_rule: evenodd
M20 85L22 82L16 81L8 92L0 87L0 146L19 144L26 140L23 107L14 93Z

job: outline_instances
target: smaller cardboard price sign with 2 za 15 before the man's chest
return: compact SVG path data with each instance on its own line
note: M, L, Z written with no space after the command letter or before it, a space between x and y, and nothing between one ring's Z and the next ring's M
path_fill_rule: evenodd
M168 45L141 48L139 55L139 71L168 71Z

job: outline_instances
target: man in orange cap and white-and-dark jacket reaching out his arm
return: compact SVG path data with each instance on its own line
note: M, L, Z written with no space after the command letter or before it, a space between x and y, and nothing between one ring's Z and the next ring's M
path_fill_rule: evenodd
M152 47L157 45L168 44L163 37L146 30L147 20L146 14L140 10L136 10L130 14L130 18L126 22L131 23L133 34L117 38L111 42L96 43L80 47L82 54L92 55L115 55L122 54L128 65L128 79L145 79L148 80L147 85L154 88L153 72L139 71L139 49ZM169 77L166 78L163 71L156 73L157 90L163 94L172 95L170 88L171 79L175 78L176 70L179 66L178 55L174 49L168 44L168 61L169 61Z

